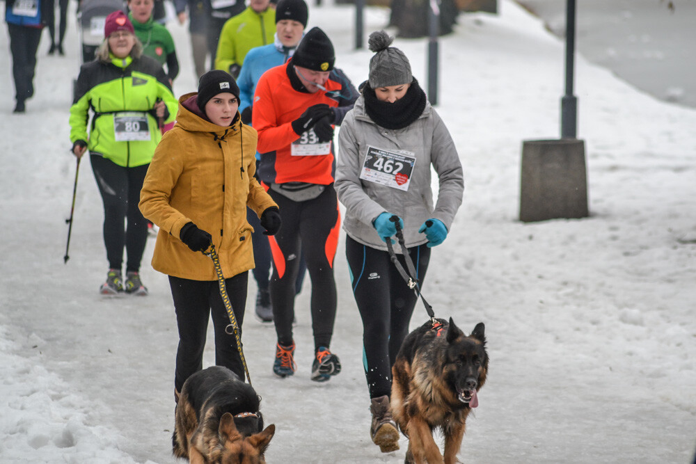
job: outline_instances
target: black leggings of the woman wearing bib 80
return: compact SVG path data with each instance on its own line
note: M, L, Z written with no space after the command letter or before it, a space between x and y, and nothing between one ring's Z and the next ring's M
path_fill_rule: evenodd
M148 221L138 208L149 164L124 168L99 154L90 155L92 170L104 203L104 246L109 268L121 269L123 247L126 271L137 272L148 240ZM127 219L124 229L123 220Z

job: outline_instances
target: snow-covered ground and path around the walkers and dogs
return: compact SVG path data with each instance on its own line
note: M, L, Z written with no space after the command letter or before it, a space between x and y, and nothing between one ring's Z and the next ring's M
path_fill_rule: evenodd
M370 51L354 51L353 10L313 6L358 84ZM327 4L328 3L328 4ZM74 4L71 4L71 8ZM388 11L368 8L366 30ZM72 14L71 14L72 20ZM175 317L166 276L143 259L147 298L104 299L102 207L81 165L70 261L65 218L74 24L68 56L46 56L36 95L13 115L8 38L0 37L0 462L173 463ZM171 23L181 95L196 89L187 30ZM425 86L424 40L397 40ZM658 102L583 58L578 136L586 142L590 218L517 221L521 143L557 138L563 43L516 3L462 15L441 42L438 111L466 175L464 205L434 248L424 292L467 332L486 323L491 356L470 416L468 463L690 463L696 446L696 111ZM309 380L309 282L299 296L299 371L271 374L275 334L252 316L244 348L268 423L270 463L402 462L370 442L361 324L344 243L335 260L332 350L344 371ZM412 327L425 321L416 307ZM207 349L205 363L212 362Z

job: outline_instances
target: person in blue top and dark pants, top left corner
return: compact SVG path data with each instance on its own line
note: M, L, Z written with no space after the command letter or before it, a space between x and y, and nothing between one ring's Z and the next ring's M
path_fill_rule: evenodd
M5 4L17 101L14 112L24 113L24 102L34 95L36 51L41 31L54 21L54 0L6 0Z

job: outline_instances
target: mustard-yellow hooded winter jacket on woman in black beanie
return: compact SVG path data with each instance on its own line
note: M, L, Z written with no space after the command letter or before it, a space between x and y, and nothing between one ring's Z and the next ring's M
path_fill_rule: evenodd
M212 235L225 278L253 269L253 228L246 207L260 217L276 203L254 178L257 134L239 118L230 127L204 119L196 93L179 99L177 121L164 134L140 195L140 210L159 226L152 267L191 280L216 280L212 260L179 238L193 222Z

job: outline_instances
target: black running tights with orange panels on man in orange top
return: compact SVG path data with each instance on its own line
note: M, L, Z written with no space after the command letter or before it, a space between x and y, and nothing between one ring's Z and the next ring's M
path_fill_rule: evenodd
M278 203L283 225L269 237L273 255L271 303L278 343L290 345L295 308L295 279L299 269L300 250L304 253L312 281L310 310L315 350L329 348L336 317L336 282L333 258L338 246L340 214L333 185L313 200L296 202L280 193L268 191Z

